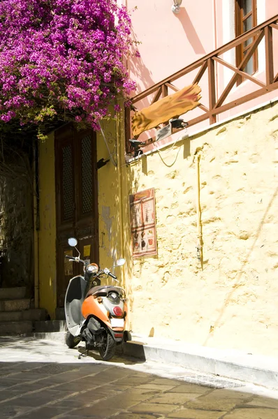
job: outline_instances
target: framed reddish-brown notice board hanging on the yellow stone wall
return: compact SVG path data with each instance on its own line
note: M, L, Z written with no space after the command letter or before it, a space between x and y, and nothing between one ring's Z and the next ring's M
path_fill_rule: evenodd
M133 258L157 255L154 188L129 196Z

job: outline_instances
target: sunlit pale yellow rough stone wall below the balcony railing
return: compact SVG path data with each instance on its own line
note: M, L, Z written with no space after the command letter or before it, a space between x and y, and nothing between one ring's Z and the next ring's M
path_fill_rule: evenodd
M196 154L203 268L196 251ZM156 191L159 255L131 259L133 331L276 355L278 104L143 157L125 177L126 203L128 193Z

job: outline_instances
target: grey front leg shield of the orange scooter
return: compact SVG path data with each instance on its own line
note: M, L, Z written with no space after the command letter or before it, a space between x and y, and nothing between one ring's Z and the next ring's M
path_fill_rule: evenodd
M81 275L78 275L78 277L73 277L69 281L66 290L66 325L73 336L80 335L80 330L85 321L85 318L82 316L81 307L85 298L86 288L87 281Z

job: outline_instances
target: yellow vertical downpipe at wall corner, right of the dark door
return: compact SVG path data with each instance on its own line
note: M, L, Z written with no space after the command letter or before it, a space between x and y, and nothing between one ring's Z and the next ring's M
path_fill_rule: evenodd
M122 152L121 152L121 117L116 119L116 141L117 141L117 177L119 187L119 229L120 229L120 256L124 258L124 202L122 193ZM126 285L125 268L122 270L123 287Z

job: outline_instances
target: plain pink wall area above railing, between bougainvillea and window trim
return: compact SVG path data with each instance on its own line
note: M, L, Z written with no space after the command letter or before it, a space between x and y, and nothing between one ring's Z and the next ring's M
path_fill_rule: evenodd
M138 92L214 50L212 2L184 0L175 15L172 0L128 0L129 10L138 6L132 22L141 57L130 63Z

